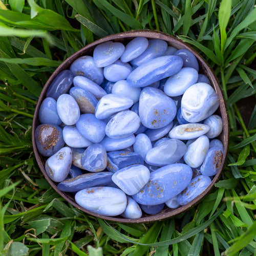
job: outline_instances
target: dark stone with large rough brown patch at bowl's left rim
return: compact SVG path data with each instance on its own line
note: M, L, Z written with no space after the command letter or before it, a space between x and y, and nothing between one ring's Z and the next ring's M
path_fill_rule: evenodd
M45 157L52 156L65 144L61 128L54 124L38 125L35 130L35 142L38 152Z

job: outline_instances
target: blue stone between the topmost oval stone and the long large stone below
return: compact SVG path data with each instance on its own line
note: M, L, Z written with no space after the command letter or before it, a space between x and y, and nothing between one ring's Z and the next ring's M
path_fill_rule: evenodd
M147 49L131 61L133 66L140 66L146 62L162 56L167 50L167 42L161 39L149 39Z

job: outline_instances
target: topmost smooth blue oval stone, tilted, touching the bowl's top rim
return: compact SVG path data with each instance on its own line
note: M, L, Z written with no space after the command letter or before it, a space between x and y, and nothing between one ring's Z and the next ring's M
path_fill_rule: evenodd
M126 46L120 60L129 62L140 56L148 47L148 40L145 37L135 37Z

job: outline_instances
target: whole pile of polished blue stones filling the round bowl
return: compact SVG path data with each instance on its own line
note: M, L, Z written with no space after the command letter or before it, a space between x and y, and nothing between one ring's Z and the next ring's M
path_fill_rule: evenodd
M197 58L160 39L106 41L52 81L35 139L58 189L95 214L185 205L219 172L222 118Z

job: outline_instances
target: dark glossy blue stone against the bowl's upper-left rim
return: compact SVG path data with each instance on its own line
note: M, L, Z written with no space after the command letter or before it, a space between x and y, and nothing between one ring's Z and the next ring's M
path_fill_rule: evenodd
M52 97L57 100L61 94L68 93L73 83L73 77L70 70L61 71L51 82L46 92L46 97Z

